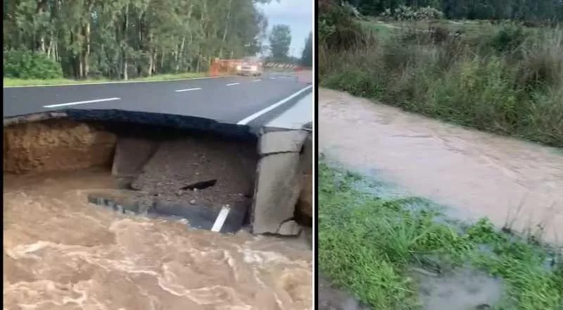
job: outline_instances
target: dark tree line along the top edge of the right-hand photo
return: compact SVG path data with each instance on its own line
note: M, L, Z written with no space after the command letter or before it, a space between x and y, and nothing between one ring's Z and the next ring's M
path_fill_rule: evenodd
M350 0L360 13L377 16L386 8L431 6L452 19L563 21L563 0Z

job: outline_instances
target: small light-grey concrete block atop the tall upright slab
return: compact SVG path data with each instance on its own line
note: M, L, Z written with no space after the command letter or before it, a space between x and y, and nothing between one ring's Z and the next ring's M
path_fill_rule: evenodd
M283 152L299 152L308 132L305 130L284 130L265 132L260 136L260 155Z

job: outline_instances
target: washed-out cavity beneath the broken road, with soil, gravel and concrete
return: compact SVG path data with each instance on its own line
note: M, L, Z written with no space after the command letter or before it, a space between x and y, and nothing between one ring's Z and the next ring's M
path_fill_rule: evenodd
M299 235L312 224L307 131L241 138L68 118L4 124L5 174L106 171L115 187L84 189L93 206L220 233Z

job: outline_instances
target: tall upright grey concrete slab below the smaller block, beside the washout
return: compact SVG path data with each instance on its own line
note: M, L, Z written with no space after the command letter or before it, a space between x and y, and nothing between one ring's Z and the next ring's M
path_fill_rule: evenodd
M252 209L253 233L277 233L293 218L301 182L299 153L271 154L258 163L258 182Z

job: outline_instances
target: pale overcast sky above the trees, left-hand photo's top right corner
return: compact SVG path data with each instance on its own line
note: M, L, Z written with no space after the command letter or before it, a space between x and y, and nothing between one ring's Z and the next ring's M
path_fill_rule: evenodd
M291 28L289 54L301 57L305 39L312 30L312 0L272 0L270 4L257 4L268 18L268 35L273 25L284 24ZM270 44L270 42L268 42Z

